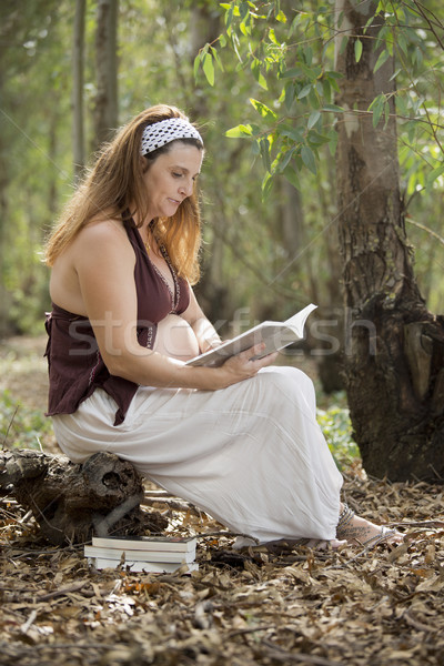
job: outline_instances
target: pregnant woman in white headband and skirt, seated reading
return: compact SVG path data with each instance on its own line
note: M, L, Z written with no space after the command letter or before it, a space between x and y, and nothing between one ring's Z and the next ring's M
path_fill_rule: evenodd
M60 447L77 463L113 452L256 543L393 537L340 503L306 375L273 367L275 354L252 361L261 345L221 367L185 365L220 344L191 286L202 158L183 113L148 109L102 149L49 239Z

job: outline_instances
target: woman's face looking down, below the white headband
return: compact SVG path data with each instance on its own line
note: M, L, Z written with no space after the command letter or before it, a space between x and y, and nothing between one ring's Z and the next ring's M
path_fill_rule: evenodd
M182 201L193 193L202 165L203 151L195 145L174 141L143 176L149 198L149 220L171 218Z

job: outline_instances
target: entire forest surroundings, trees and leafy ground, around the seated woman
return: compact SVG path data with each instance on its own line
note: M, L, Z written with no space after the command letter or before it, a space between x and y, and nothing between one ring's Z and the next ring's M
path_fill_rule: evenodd
M3 487L0 664L443 663L441 4L0 2L2 460L54 446L14 383L26 404L46 402L44 236L107 132L169 102L206 145L206 313L230 335L319 305L305 356L284 362L345 389L329 404L346 395L367 474L343 465L343 497L405 538L239 553L210 516L147 484L170 533L199 535L200 569L98 572L82 544L50 547ZM320 416L346 455L349 412Z

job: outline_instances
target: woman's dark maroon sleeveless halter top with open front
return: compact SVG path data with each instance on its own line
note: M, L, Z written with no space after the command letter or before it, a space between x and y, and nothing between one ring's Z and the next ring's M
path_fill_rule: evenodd
M182 314L190 303L190 292L186 281L176 276L164 248L161 248L161 252L173 278L174 293L150 261L132 220L125 223L125 230L135 254L138 340L142 346L152 349L158 323L170 313ZM46 329L49 335L44 354L49 370L47 416L72 414L82 401L100 387L117 402L114 425L120 425L138 384L108 372L89 319L53 303L52 312L47 314Z

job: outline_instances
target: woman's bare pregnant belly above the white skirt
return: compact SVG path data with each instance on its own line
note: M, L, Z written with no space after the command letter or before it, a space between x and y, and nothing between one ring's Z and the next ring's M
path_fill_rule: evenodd
M199 354L199 344L194 331L184 319L169 314L158 324L154 352L189 361Z

